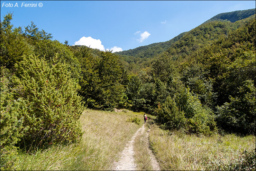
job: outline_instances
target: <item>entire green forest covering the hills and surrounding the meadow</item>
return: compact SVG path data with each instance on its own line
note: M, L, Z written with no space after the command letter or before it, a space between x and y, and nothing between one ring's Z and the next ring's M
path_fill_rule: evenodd
M79 142L85 107L144 111L188 134L255 135L255 9L118 53L11 20L1 21L1 170L18 149Z

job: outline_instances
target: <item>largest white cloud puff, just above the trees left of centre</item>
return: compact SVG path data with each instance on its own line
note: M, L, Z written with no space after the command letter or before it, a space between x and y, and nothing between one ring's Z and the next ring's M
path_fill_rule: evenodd
M75 42L75 45L85 45L87 47L99 50L105 50L104 46L101 44L100 39L94 39L92 37L81 37L78 41Z

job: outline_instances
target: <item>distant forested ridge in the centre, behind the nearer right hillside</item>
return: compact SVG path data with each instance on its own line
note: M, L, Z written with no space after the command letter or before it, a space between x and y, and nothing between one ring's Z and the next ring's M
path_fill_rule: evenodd
M165 42L158 42L146 46L140 46L135 49L116 52L115 54L133 56L138 58L150 58L166 51L174 42L178 41L185 34L186 32L183 32L178 36L174 37L173 39Z

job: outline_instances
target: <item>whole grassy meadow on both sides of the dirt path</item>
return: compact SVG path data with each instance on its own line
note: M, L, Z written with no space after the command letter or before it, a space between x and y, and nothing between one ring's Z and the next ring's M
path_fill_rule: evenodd
M19 152L10 170L112 170L126 143L143 125L143 114L128 110L84 110L80 118L84 133L79 144L55 144L29 154ZM128 122L134 116L140 118L139 124ZM134 141L137 170L153 169L148 140L162 170L243 170L246 168L243 152L255 149L252 135L186 135L181 131L162 130L154 123L155 116L147 116L145 131Z

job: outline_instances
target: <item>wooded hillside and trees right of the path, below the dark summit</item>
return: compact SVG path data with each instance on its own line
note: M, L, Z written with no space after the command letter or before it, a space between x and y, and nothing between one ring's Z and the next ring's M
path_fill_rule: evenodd
M128 101L155 113L163 127L255 134L255 14L204 23L150 64L131 65Z

